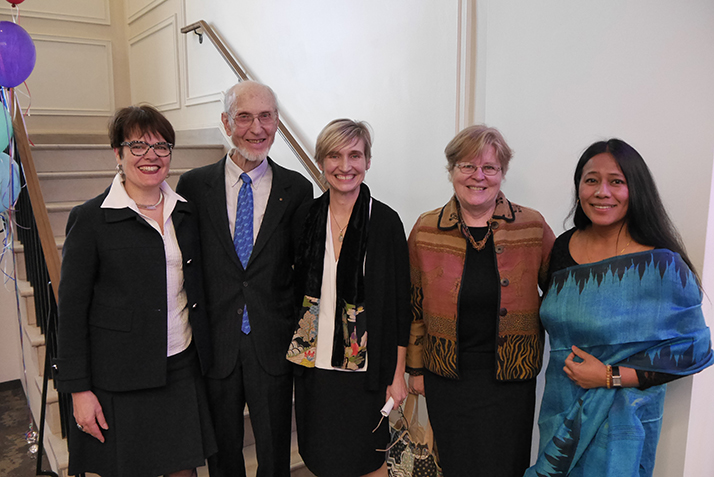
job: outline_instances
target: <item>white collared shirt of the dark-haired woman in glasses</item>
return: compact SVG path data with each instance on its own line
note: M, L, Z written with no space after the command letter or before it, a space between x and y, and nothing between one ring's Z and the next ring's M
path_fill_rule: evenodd
M183 287L183 257L176 238L176 230L171 221L171 214L178 201L186 202L186 199L178 195L171 189L166 181L161 183L161 192L164 194L164 233L161 227L152 218L147 217L136 202L129 197L124 189L121 176L114 176L109 194L102 202L102 209L125 209L130 208L141 216L151 227L153 227L164 242L164 253L166 255L166 305L167 305L167 349L166 356L173 356L188 348L191 344L192 330L188 322L188 299L186 290Z

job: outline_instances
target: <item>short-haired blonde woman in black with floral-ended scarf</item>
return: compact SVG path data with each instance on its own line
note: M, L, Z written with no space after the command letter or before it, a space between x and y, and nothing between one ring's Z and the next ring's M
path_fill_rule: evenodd
M397 213L363 184L371 145L363 122L328 124L315 157L329 190L293 219L300 311L288 359L300 454L318 476L386 477L379 411L407 395L409 252Z

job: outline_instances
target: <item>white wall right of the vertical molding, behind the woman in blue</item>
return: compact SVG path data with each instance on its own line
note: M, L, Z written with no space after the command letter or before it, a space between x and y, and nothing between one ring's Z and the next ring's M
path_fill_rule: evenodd
M508 194L562 230L579 155L620 137L647 161L701 266L714 148L714 3L479 5L479 116L516 151Z

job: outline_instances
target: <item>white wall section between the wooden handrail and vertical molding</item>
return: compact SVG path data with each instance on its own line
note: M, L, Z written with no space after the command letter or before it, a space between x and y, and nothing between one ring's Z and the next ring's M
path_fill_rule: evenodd
M218 29L276 91L281 114L311 151L332 119L372 125L366 182L407 229L451 194L443 149L456 130L458 14L455 0L186 1L186 23L204 19ZM188 42L195 49L193 35ZM201 51L210 48L204 42ZM301 168L277 150L271 156Z

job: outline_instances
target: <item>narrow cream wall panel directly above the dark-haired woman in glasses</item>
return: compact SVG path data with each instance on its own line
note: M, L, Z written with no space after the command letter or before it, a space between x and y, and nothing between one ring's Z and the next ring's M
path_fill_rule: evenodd
M177 35L174 14L129 39L132 103L160 111L181 107Z

